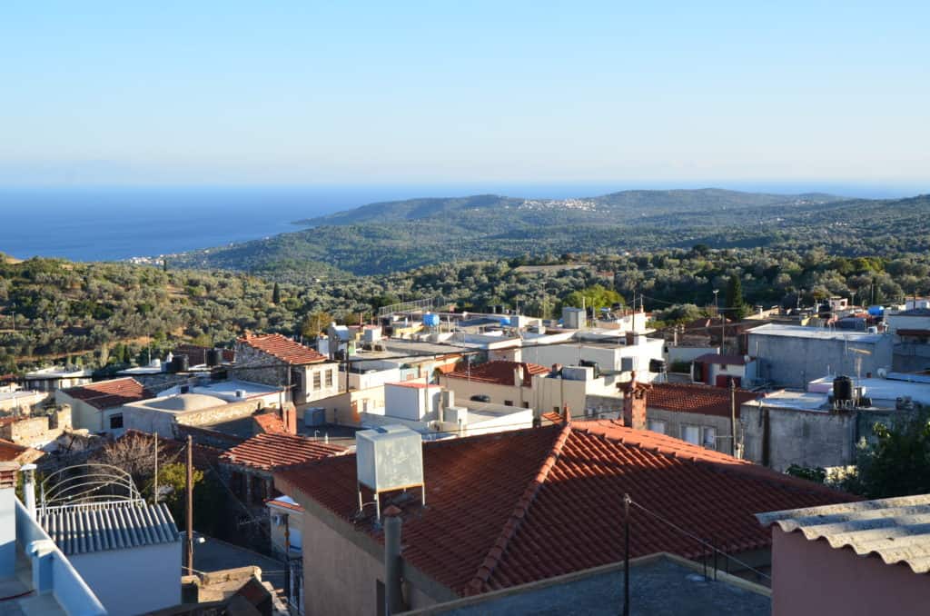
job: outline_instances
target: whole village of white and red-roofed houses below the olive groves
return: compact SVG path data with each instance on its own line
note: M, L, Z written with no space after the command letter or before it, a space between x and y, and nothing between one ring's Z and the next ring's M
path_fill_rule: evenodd
M0 611L930 605L930 485L895 453L924 450L930 300L560 308L401 301L3 377Z

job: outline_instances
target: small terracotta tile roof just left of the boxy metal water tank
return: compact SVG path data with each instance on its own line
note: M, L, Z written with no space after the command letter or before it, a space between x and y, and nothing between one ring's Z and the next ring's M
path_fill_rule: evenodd
M270 471L345 453L345 448L307 436L260 434L227 449L219 462ZM354 458L352 459L354 462Z

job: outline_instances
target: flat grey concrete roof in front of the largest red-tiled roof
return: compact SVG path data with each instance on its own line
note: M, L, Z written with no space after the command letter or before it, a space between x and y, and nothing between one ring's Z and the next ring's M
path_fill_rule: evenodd
M637 616L767 616L769 592L753 583L671 555L637 558L630 569L630 612ZM616 616L623 607L622 564L568 574L422 609L447 616Z

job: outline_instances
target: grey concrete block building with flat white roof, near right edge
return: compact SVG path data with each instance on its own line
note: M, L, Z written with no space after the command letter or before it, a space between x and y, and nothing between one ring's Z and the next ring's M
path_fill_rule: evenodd
M776 387L802 389L829 373L877 375L892 363L889 334L768 324L748 335L759 379Z

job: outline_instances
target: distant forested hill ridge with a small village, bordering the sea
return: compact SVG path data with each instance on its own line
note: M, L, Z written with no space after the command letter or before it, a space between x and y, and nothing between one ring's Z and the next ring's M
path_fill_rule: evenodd
M840 199L714 189L591 199L479 195L373 204L295 233L170 259L277 280L399 272L432 263L690 248L825 248L845 256L930 250L930 196Z

